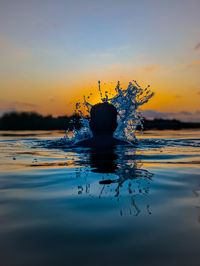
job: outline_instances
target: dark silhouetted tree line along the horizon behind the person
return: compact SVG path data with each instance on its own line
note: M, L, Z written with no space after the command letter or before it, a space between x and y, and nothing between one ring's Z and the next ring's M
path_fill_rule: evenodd
M173 119L143 121L144 130L200 128L200 123L181 122ZM81 127L80 116L42 116L35 112L11 112L0 118L0 130L73 130ZM140 129L140 128L138 128Z

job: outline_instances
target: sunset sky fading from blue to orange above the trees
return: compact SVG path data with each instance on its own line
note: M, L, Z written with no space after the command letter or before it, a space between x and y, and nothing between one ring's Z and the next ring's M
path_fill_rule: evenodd
M0 114L71 114L98 80L134 79L155 92L147 117L200 121L199 14L199 0L0 0Z

